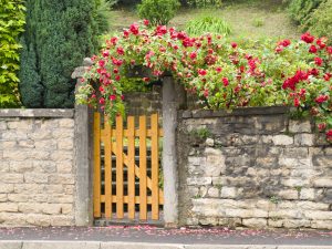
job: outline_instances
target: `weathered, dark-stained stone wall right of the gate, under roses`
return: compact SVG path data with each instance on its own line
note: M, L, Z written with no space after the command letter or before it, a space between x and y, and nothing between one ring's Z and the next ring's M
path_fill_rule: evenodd
M332 229L332 146L283 107L183 112L181 225Z

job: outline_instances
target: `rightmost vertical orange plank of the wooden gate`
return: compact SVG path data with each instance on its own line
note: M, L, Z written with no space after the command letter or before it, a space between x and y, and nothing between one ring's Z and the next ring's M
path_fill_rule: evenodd
M159 219L158 114L151 116L152 219Z

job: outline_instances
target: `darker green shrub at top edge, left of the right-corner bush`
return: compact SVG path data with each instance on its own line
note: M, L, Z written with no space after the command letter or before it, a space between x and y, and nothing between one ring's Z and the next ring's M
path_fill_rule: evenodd
M312 11L314 11L324 0L290 0L289 13L295 23L304 24Z

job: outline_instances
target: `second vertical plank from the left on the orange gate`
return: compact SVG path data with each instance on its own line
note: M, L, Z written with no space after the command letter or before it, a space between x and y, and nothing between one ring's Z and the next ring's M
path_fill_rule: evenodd
M105 217L112 217L112 128L105 116Z

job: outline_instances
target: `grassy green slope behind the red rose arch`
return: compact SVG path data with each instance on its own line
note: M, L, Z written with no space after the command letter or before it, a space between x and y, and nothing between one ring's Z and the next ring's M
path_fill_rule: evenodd
M242 0L225 3L220 9L181 9L169 25L183 29L201 14L224 18L232 28L231 38L299 38L300 31L292 24L281 0ZM134 8L110 11L111 31L128 27L139 18Z

